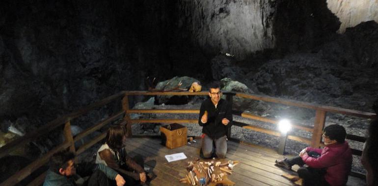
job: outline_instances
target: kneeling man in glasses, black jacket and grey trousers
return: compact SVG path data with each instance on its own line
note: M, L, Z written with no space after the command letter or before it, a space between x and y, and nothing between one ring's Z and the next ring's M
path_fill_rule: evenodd
M204 158L213 156L213 149L218 158L224 158L227 152L227 132L231 127L231 106L221 99L220 85L214 83L210 86L209 99L201 104L198 124L202 126L202 153ZM215 146L214 146L215 144Z

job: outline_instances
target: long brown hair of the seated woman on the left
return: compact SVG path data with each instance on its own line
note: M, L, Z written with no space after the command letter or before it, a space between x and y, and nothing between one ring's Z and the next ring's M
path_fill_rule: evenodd
M123 125L111 126L108 130L106 142L111 149L119 149L122 147L123 136L126 136L126 128Z

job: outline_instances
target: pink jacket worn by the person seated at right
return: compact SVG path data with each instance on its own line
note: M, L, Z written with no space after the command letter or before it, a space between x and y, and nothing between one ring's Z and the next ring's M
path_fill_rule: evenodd
M347 141L327 145L324 149L311 147L306 149L307 152L316 151L321 154L319 158L312 158L305 154L302 156L302 160L313 168L327 168L324 178L330 186L347 184L352 165L352 152Z

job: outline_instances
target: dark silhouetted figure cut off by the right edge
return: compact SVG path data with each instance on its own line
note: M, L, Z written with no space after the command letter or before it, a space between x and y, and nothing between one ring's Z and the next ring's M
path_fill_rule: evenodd
M378 186L378 119L373 120L368 129L368 138L362 150L361 163L366 169L367 186Z

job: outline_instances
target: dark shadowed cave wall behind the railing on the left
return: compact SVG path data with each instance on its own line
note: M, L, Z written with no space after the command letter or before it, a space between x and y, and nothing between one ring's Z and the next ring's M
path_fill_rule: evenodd
M173 6L1 1L0 123L20 116L45 123L122 90L146 90L147 76L204 78L210 68L198 64L206 58L174 39Z

